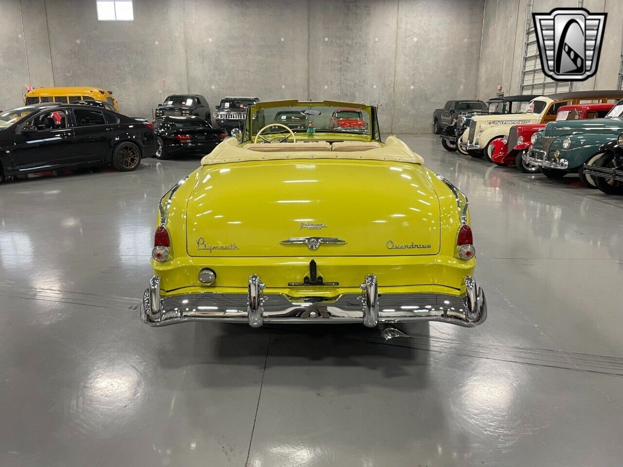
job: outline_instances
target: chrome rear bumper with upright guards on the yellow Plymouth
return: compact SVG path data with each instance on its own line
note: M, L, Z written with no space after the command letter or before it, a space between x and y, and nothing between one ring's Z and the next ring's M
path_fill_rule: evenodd
M150 326L186 321L249 323L379 323L441 321L473 327L487 319L487 300L472 276L465 276L462 296L439 293L381 293L376 276L368 275L361 293L327 298L295 298L264 293L259 276L249 278L247 293L203 292L160 298L160 278L153 276L141 301L141 320Z

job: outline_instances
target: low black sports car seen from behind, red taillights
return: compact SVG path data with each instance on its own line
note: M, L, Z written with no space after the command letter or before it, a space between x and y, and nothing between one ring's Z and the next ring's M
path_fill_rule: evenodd
M205 154L227 138L222 128L212 128L198 116L161 116L153 121L158 143L156 158L182 154Z

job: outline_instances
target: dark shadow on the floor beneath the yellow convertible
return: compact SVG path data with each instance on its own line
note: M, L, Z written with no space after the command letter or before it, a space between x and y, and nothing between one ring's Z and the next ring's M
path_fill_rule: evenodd
M426 385L429 323L401 326L412 337L390 341L384 341L378 329L360 324L265 324L253 329L246 324L188 323L171 328L178 329L159 352L161 366L169 369L214 364L363 367L380 371L383 378L416 372L417 384ZM176 351L171 352L171 347ZM409 380L411 386L413 382ZM206 377L206 384L217 382Z

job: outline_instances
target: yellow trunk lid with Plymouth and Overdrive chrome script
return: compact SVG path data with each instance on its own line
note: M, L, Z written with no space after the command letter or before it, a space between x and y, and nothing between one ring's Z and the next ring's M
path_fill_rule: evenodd
M209 166L187 212L191 256L434 255L440 246L439 201L417 164Z

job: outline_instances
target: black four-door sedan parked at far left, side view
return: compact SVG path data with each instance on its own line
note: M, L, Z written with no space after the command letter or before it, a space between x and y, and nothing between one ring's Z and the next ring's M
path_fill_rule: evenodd
M105 108L46 102L0 113L3 178L107 164L131 171L155 152L145 123Z

